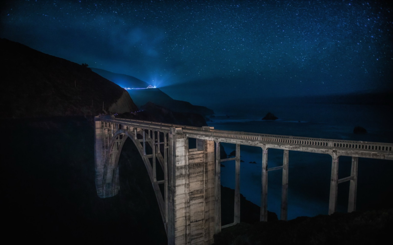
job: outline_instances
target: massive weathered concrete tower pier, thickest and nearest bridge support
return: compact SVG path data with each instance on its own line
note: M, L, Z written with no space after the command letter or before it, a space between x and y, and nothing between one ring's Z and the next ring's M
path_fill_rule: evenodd
M171 127L166 196L168 244L211 244L216 222L214 142L204 141L198 151L189 151L187 146L182 129Z

